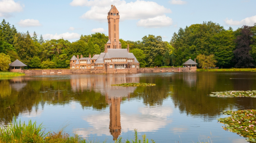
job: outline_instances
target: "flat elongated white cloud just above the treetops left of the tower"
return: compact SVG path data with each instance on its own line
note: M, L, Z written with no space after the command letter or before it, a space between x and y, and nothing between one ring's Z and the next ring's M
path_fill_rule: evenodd
M79 39L80 38L80 35L78 33L69 33L69 32L66 32L66 33L62 33L62 34L45 34L43 35L43 39L65 39L65 40L69 40L69 39Z

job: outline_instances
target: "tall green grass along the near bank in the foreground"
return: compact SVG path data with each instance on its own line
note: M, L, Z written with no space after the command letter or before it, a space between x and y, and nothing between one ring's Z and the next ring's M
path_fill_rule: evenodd
M133 140L123 140L122 137L117 138L115 143L149 143L146 134L142 135L142 140L138 139L137 130L135 129ZM154 140L151 140L155 143ZM89 141L85 138L75 134L69 136L63 130L59 132L45 132L42 123L36 125L29 120L26 125L25 122L17 121L14 117L13 123L7 127L0 127L0 143L100 143L99 141ZM102 143L106 143L106 140Z

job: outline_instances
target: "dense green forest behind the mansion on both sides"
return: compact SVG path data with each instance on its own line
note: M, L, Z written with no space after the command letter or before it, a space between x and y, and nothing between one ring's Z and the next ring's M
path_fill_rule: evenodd
M108 36L104 33L81 35L75 42L52 39L43 40L34 31L33 36L16 30L14 25L2 20L0 24L0 70L19 59L27 68L68 68L73 55L100 54ZM199 67L243 68L256 66L256 23L243 25L237 30L225 30L217 23L203 22L180 28L170 42L161 36L144 36L141 41L120 39L122 48L129 44L140 62L140 67L182 66L189 58Z

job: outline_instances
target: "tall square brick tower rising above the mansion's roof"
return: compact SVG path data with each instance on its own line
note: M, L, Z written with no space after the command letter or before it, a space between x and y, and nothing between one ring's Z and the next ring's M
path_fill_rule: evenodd
M111 5L111 9L108 12L108 42L106 48L121 48L121 43L119 42L119 18L119 11L115 6Z

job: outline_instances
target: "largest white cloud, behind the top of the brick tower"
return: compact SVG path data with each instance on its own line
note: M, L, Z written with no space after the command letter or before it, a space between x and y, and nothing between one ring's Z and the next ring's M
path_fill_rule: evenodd
M165 13L171 13L170 9L156 2L143 0L129 3L126 3L124 0L73 0L70 5L91 7L81 18L107 21L107 13L113 3L120 12L121 21L154 18Z

